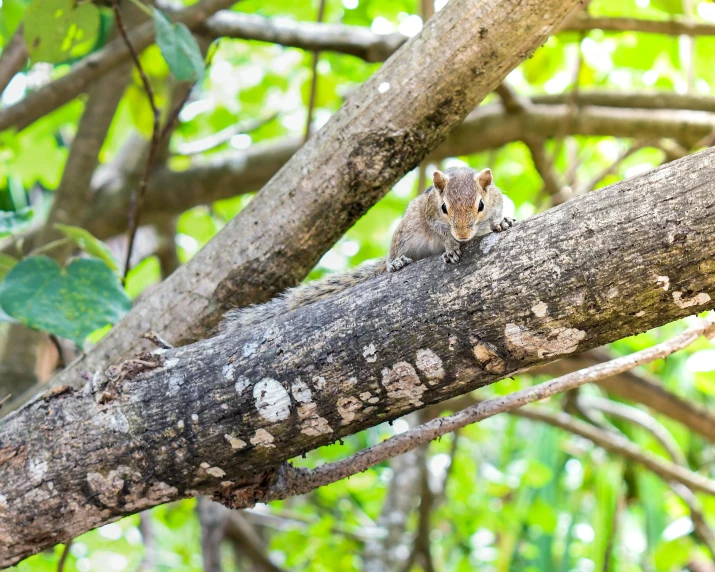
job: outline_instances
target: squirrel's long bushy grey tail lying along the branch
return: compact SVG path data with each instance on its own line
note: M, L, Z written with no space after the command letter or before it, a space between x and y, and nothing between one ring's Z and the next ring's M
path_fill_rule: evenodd
M368 262L344 274L326 276L302 286L289 288L265 304L229 310L224 315L219 329L225 332L245 328L302 308L384 273L385 264L384 259Z

